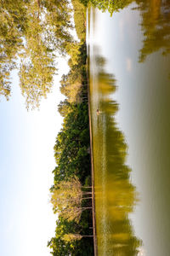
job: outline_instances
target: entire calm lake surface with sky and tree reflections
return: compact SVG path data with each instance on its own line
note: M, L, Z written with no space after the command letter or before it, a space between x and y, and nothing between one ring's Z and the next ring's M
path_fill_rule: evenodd
M169 256L170 3L91 9L88 43L99 256Z

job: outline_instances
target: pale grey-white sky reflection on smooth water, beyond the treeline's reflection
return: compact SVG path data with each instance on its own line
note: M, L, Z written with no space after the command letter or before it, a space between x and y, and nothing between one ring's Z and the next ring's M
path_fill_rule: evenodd
M169 255L170 60L168 55L161 55L158 40L160 48L152 54L147 50L144 62L139 63L144 47L139 14L139 10L123 9L110 18L97 11L93 44L99 45L100 55L107 59L105 71L115 74L118 85L113 96L119 103L116 122L126 137L127 164L133 169L131 178L141 199L131 214L135 233L144 241L139 255L144 250L147 255ZM166 24L163 19L161 27ZM169 49L167 41L165 46Z

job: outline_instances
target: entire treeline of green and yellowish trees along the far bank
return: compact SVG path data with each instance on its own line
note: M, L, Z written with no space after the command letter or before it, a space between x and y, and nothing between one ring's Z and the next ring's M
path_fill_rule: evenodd
M86 9L72 1L79 42L73 44L70 71L62 76L59 103L63 127L56 138L56 167L51 203L57 213L55 236L48 241L53 255L94 255L91 163L88 122Z

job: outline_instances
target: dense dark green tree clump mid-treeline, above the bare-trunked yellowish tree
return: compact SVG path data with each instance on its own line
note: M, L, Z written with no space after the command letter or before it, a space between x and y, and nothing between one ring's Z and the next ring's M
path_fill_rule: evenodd
M81 103L70 107L64 119L64 127L57 137L54 156L57 166L54 170L55 181L77 175L81 179L89 173L89 131L88 106Z

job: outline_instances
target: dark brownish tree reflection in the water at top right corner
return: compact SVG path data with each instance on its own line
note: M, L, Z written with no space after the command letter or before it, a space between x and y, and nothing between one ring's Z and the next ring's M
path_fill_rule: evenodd
M170 53L170 3L167 0L136 0L142 17L144 32L143 48L139 61L161 49L163 55Z

